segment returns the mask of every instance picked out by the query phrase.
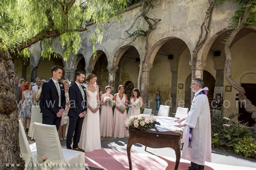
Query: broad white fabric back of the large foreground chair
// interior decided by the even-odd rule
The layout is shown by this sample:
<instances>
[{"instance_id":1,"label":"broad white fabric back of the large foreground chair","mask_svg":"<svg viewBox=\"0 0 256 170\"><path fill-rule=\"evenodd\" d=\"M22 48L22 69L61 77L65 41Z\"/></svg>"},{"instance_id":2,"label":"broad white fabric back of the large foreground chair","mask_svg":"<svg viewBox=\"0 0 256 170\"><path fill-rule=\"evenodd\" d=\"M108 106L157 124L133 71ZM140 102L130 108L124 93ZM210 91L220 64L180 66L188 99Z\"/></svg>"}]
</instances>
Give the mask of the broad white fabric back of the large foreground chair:
<instances>
[{"instance_id":1,"label":"broad white fabric back of the large foreground chair","mask_svg":"<svg viewBox=\"0 0 256 170\"><path fill-rule=\"evenodd\" d=\"M64 155L55 125L34 123L37 155L52 162L64 163Z\"/></svg>"}]
</instances>

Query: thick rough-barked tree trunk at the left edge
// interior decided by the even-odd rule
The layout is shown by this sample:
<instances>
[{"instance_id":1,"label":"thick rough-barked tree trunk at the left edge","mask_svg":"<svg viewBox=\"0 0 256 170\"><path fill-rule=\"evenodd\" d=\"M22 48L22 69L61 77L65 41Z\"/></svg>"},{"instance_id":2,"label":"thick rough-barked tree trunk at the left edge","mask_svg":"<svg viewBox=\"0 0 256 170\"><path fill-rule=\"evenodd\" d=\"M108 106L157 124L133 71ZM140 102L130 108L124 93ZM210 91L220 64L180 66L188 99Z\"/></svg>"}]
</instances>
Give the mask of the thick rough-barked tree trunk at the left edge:
<instances>
[{"instance_id":1,"label":"thick rough-barked tree trunk at the left edge","mask_svg":"<svg viewBox=\"0 0 256 170\"><path fill-rule=\"evenodd\" d=\"M12 58L8 52L0 52L0 169L24 169L19 150L16 84Z\"/></svg>"}]
</instances>

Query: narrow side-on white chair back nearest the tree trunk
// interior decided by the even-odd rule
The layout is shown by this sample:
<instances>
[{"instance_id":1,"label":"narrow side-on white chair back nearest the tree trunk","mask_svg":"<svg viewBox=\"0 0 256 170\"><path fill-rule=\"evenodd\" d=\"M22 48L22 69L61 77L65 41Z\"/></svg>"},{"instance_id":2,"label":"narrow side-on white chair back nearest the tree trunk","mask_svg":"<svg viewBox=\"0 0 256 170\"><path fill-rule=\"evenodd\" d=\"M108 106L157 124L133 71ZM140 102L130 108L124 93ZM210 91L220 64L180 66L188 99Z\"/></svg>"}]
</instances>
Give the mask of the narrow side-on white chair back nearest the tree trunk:
<instances>
[{"instance_id":1,"label":"narrow side-on white chair back nearest the tree trunk","mask_svg":"<svg viewBox=\"0 0 256 170\"><path fill-rule=\"evenodd\" d=\"M19 148L21 150L22 157L28 163L31 158L31 150L29 147L29 141L26 138L26 133L24 131L22 122L19 120Z\"/></svg>"}]
</instances>

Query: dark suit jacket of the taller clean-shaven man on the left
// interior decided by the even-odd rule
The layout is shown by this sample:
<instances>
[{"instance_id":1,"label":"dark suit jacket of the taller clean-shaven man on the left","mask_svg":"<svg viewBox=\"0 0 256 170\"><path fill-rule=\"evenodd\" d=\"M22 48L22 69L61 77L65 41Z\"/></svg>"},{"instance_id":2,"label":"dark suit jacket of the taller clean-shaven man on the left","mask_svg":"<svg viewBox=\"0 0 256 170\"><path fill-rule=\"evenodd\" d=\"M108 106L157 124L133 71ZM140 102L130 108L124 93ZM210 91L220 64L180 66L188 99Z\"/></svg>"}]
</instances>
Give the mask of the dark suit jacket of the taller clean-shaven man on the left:
<instances>
[{"instance_id":1,"label":"dark suit jacket of the taller clean-shaven man on the left","mask_svg":"<svg viewBox=\"0 0 256 170\"><path fill-rule=\"evenodd\" d=\"M55 83L52 81L52 79L43 83L41 94L41 96L43 96L41 98L43 100L42 104L44 104L43 116L56 117L59 109L65 109L66 97L63 83L59 82L59 88L61 103L60 107L58 107L59 95Z\"/></svg>"}]
</instances>

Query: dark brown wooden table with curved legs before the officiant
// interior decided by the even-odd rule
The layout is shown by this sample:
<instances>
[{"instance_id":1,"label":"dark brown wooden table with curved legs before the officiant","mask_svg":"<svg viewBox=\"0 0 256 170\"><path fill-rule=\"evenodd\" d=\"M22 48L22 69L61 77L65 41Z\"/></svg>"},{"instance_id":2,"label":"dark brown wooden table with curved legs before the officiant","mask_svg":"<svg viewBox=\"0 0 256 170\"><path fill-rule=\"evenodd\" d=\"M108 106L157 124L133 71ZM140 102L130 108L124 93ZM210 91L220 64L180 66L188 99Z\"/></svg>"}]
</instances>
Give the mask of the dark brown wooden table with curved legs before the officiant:
<instances>
[{"instance_id":1,"label":"dark brown wooden table with curved legs before the officiant","mask_svg":"<svg viewBox=\"0 0 256 170\"><path fill-rule=\"evenodd\" d=\"M163 147L171 147L175 151L176 154L176 164L175 170L178 169L179 161L180 161L180 138L182 136L182 132L177 131L166 131L159 132L157 134L156 131L140 131L140 130L129 130L130 137L127 143L127 157L129 160L129 168L132 169L132 161L131 161L131 147L133 144L139 143L152 148L163 148Z\"/></svg>"}]
</instances>

